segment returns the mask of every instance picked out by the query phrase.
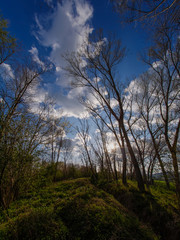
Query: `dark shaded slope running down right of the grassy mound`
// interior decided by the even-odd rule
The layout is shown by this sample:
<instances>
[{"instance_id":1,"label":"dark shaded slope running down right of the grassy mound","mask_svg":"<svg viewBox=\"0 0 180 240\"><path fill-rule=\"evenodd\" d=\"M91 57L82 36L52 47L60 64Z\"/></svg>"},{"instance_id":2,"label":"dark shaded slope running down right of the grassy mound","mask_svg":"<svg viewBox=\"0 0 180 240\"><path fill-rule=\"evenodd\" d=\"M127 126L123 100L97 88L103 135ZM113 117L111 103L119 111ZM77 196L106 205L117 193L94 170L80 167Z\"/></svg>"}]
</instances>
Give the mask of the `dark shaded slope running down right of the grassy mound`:
<instances>
[{"instance_id":1,"label":"dark shaded slope running down right of the grassy mound","mask_svg":"<svg viewBox=\"0 0 180 240\"><path fill-rule=\"evenodd\" d=\"M141 193L133 183L129 187L124 187L117 182L100 182L97 186L112 194L124 207L134 213L140 221L150 225L153 231L161 237L161 240L180 239L180 217L174 219L174 214L168 211L160 201L157 201L151 193ZM159 189L163 191L161 187ZM171 194L171 192L168 192L168 194ZM176 214L176 216L179 215L178 212Z\"/></svg>"}]
</instances>

